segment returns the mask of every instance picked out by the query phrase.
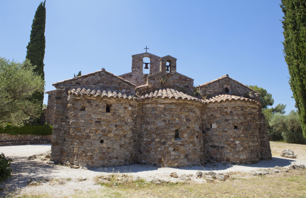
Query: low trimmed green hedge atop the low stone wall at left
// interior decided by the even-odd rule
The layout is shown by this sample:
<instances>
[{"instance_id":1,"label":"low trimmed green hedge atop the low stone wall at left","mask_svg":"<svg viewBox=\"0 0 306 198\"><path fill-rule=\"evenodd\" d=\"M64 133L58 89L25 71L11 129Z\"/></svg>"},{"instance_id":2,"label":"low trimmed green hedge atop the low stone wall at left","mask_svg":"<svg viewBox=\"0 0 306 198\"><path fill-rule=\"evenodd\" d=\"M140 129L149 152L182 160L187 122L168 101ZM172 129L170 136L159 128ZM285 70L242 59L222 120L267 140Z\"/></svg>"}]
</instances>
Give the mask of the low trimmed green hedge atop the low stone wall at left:
<instances>
[{"instance_id":1,"label":"low trimmed green hedge atop the low stone wall at left","mask_svg":"<svg viewBox=\"0 0 306 198\"><path fill-rule=\"evenodd\" d=\"M6 125L5 128L0 128L0 134L6 133L10 135L41 135L47 136L52 135L52 125L24 125L23 127L14 127Z\"/></svg>"}]
</instances>

